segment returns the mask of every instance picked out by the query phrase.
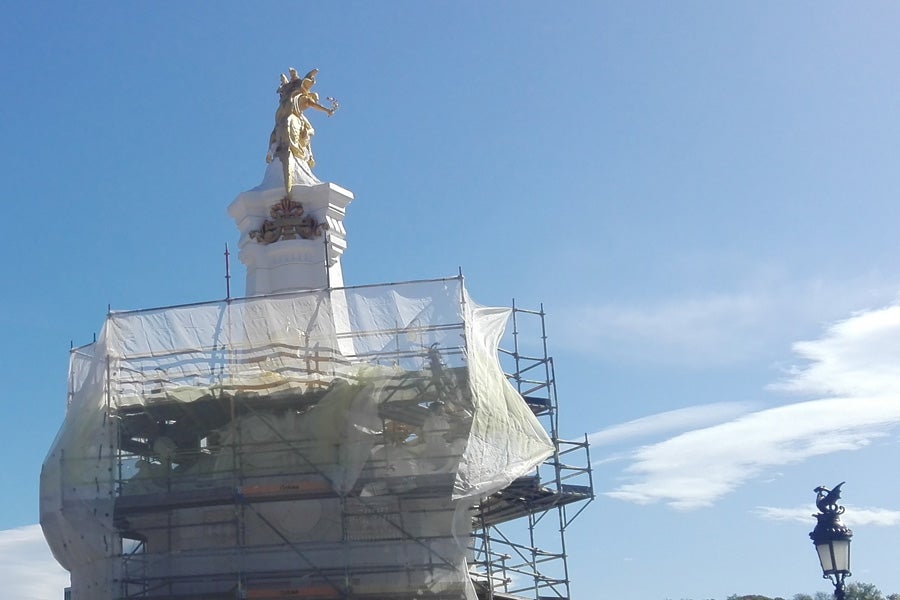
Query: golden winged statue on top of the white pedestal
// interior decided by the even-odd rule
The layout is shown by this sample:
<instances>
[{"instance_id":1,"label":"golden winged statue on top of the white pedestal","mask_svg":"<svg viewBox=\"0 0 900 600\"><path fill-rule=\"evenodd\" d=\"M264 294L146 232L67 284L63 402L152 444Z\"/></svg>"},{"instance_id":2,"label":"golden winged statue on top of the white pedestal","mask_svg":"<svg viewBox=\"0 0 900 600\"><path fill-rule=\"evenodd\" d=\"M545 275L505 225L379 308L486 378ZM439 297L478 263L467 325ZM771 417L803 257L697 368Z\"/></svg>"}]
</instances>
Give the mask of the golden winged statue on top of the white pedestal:
<instances>
[{"instance_id":1,"label":"golden winged statue on top of the white pedestal","mask_svg":"<svg viewBox=\"0 0 900 600\"><path fill-rule=\"evenodd\" d=\"M266 162L270 163L277 158L281 162L284 173L284 189L288 196L296 179L294 168L299 171L302 179L318 182L312 174L312 168L316 161L312 155L310 139L315 130L309 119L303 114L307 108L314 108L326 113L329 117L338 108L334 98L327 98L331 102L330 107L319 104L319 95L312 91L316 83L318 69L313 69L302 79L297 75L296 69L291 67L288 72L291 77L281 75L281 85L278 87L278 108L275 110L275 128L269 136L269 152Z\"/></svg>"}]
</instances>

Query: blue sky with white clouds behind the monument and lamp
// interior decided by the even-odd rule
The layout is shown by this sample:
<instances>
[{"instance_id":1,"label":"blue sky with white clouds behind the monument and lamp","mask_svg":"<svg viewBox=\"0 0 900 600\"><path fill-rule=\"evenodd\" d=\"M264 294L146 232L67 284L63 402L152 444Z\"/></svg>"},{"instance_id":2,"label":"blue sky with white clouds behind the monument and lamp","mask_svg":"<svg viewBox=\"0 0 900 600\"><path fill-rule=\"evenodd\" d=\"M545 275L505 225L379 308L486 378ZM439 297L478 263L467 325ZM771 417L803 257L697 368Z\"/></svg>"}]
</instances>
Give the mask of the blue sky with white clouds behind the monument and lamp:
<instances>
[{"instance_id":1,"label":"blue sky with white clouds behind the monument and lamp","mask_svg":"<svg viewBox=\"0 0 900 600\"><path fill-rule=\"evenodd\" d=\"M828 589L812 489L845 479L854 577L900 592L900 6L8 2L0 18L0 587L56 597L6 558L46 560L29 526L70 340L108 305L224 296L225 208L262 178L295 66L341 103L311 118L316 174L356 195L348 284L461 266L481 303L544 303L563 433L594 442L573 597Z\"/></svg>"}]
</instances>

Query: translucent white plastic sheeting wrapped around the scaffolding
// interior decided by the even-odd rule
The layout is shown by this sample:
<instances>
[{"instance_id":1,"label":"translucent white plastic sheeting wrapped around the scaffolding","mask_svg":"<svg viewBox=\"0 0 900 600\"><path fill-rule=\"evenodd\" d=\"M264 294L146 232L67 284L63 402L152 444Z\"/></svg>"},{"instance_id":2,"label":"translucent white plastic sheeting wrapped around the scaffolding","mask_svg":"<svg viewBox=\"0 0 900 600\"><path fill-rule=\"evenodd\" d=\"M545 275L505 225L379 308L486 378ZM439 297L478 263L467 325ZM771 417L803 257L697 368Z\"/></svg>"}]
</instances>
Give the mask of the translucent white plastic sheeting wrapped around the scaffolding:
<instances>
[{"instance_id":1,"label":"translucent white plastic sheeting wrapped around the scaffolding","mask_svg":"<svg viewBox=\"0 0 900 600\"><path fill-rule=\"evenodd\" d=\"M41 473L73 598L474 598L471 507L552 452L508 314L458 278L110 314Z\"/></svg>"}]
</instances>

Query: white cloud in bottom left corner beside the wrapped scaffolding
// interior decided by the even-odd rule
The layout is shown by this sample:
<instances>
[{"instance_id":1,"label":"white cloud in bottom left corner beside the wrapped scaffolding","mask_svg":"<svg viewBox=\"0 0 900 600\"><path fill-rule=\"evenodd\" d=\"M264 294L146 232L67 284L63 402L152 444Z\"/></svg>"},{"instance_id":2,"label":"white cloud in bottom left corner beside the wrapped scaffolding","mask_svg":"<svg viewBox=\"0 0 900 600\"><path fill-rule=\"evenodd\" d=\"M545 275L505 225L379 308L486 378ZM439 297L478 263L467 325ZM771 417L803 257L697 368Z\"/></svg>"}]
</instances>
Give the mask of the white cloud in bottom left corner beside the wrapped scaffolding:
<instances>
[{"instance_id":1,"label":"white cloud in bottom left corner beside the wrapped scaffolding","mask_svg":"<svg viewBox=\"0 0 900 600\"><path fill-rule=\"evenodd\" d=\"M61 600L69 585L39 525L0 531L0 590L17 600Z\"/></svg>"}]
</instances>

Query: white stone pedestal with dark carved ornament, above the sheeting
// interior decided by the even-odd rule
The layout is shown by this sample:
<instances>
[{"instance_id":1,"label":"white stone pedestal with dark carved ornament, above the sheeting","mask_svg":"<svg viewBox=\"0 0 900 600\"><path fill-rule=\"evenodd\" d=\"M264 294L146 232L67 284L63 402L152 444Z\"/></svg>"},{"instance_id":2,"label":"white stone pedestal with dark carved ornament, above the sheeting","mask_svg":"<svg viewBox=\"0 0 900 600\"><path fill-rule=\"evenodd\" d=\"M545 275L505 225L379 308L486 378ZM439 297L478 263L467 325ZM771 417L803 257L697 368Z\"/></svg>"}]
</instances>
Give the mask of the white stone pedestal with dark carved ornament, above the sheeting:
<instances>
[{"instance_id":1,"label":"white stone pedestal with dark carved ornament, above the sheeting","mask_svg":"<svg viewBox=\"0 0 900 600\"><path fill-rule=\"evenodd\" d=\"M265 182L264 182L265 183ZM240 231L247 296L343 287L344 214L353 194L333 183L249 190L228 207Z\"/></svg>"}]
</instances>

